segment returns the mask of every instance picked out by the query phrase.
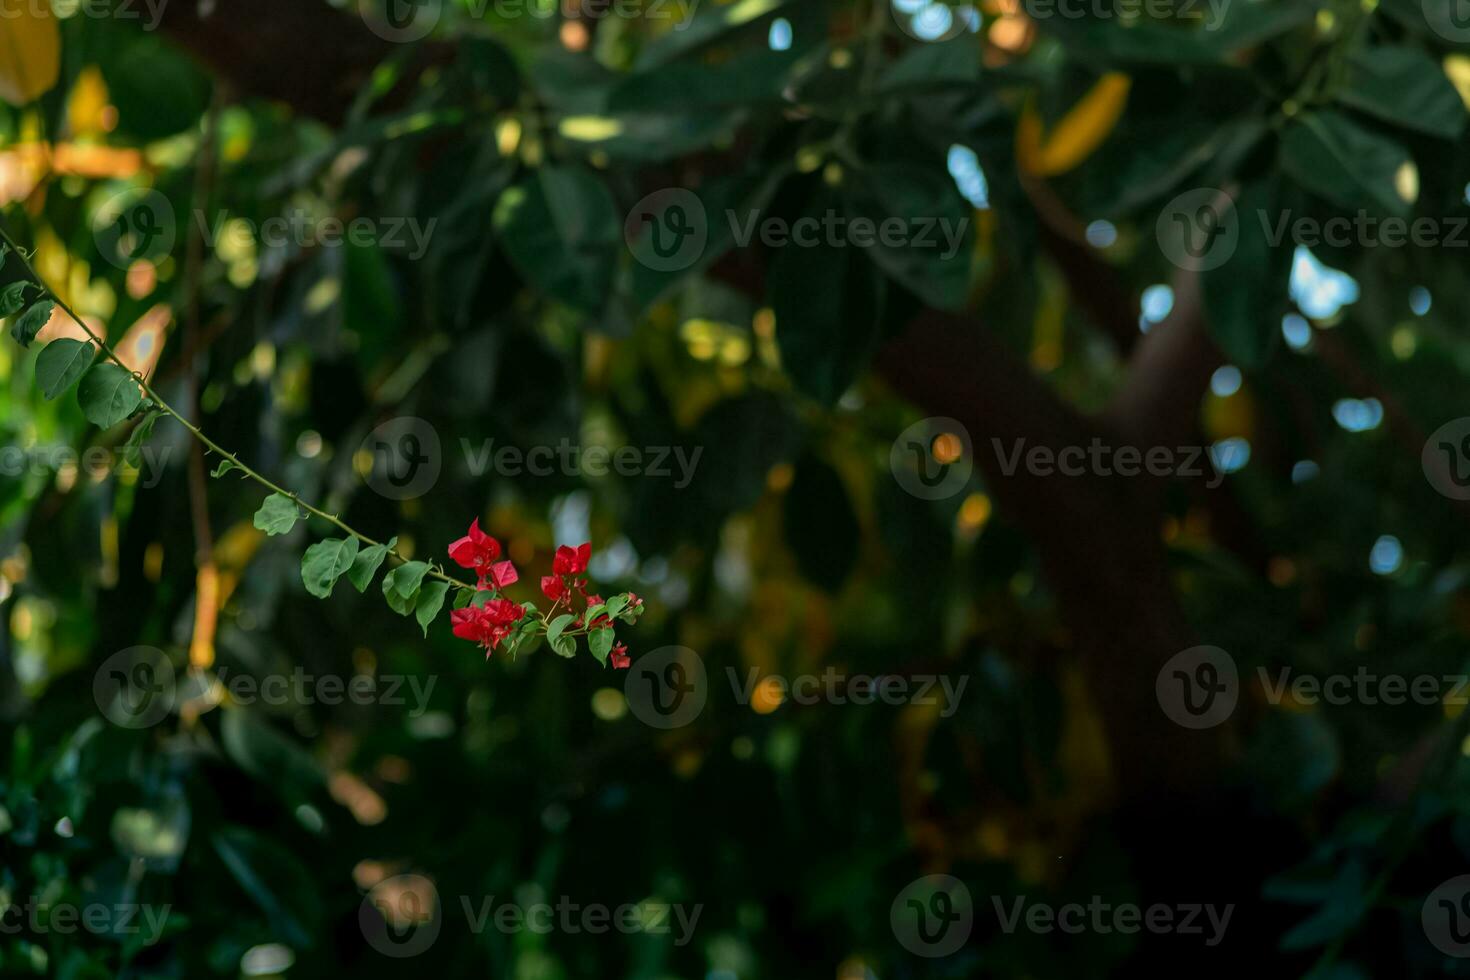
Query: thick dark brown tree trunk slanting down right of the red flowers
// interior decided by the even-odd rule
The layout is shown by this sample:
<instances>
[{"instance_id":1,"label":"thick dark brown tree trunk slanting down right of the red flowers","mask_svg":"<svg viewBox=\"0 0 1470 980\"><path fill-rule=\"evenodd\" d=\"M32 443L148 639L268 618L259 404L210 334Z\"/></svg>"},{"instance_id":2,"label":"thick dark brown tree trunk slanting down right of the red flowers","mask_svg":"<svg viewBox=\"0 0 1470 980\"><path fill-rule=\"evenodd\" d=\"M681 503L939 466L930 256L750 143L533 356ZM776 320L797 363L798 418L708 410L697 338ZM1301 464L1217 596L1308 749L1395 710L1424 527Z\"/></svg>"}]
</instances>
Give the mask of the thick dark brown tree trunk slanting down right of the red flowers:
<instances>
[{"instance_id":1,"label":"thick dark brown tree trunk slanting down right of the red flowers","mask_svg":"<svg viewBox=\"0 0 1470 980\"><path fill-rule=\"evenodd\" d=\"M925 411L969 429L986 486L1036 547L1097 685L1125 795L1177 805L1219 789L1222 735L1185 732L1155 702L1160 667L1195 644L1169 580L1157 505L1091 472L1042 475L1025 463L1032 447L1055 453L1110 436L972 319L923 313L876 369Z\"/></svg>"}]
</instances>

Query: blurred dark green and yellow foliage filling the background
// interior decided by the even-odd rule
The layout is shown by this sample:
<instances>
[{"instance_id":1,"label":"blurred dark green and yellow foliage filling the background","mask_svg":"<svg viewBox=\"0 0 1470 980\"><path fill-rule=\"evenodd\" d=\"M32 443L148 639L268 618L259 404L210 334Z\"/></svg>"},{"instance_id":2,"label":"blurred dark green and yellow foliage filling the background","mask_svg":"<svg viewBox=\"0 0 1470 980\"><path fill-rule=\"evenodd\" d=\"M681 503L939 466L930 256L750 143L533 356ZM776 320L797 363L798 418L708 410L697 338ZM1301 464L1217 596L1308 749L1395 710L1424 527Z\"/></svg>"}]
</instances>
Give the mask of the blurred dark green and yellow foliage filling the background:
<instances>
[{"instance_id":1,"label":"blurred dark green and yellow foliage filling the background","mask_svg":"<svg viewBox=\"0 0 1470 980\"><path fill-rule=\"evenodd\" d=\"M1254 671L1464 670L1466 511L1419 463L1424 433L1463 413L1464 253L1292 250L1245 222L1239 257L1201 285L1154 231L1197 187L1316 217L1470 216L1470 47L1435 29L1449 3L1235 0L1204 29L1013 0L706 0L688 22L673 4L597 18L456 0L423 41L388 44L370 16L319 0L204 15L171 0L159 31L138 4L143 21L57 1L56 84L0 109L3 220L46 281L220 444L413 555L441 558L479 516L531 583L556 544L591 539L604 591L648 597L635 660L689 646L711 696L660 732L588 658L485 663L375 597L310 598L295 570L310 532L265 539L250 483L210 480L201 532L191 447L169 420L156 472L51 453L0 476L0 896L173 914L151 946L4 934L0 970L1463 976L1419 926L1423 896L1470 858L1463 707L1269 705ZM623 220L666 187L711 216L831 207L969 219L967 235L958 260L933 262L738 247L711 220L695 266L656 272ZM175 244L118 262L97 234L109 201L150 191ZM298 212L435 225L413 256L251 234ZM1066 613L1051 564L1070 555L1104 595L1144 558L1107 536L1050 539L983 472L945 500L904 492L895 435L945 413L885 376L885 344L914 317L966 310L1013 360L931 350L954 388L1008 391L1005 372L1023 373L1039 379L1028 397L1104 413L1141 382L1132 347L1186 292L1223 354L1194 391L1169 375L1183 403L1155 414L1183 420L1182 444L1233 453L1225 488L1173 483L1138 530L1132 486L1073 507L1095 489L1078 482L1053 491L1053 517L1116 513L1160 548L1157 607L1177 602L1189 633L1241 664L1227 765L1185 765L1204 796L1176 793L1108 716L1122 663L1188 644L1100 627L1111 655L1092 657L1091 613ZM0 347L6 447L122 444L126 428L41 400L32 360ZM1047 442L1050 410L1016 414ZM359 448L397 416L428 420L445 460L401 502L368 488ZM490 439L703 454L682 488L506 478L462 448ZM198 696L134 732L93 696L97 664L134 645L166 651L194 693L220 673L297 669L437 683L423 713ZM1144 660L1152 707L1163 658ZM741 705L726 670L753 667L970 683L951 717ZM888 914L936 871L976 896L976 929L925 961ZM450 896L413 961L373 952L357 924L366 890L398 873ZM704 912L684 948L470 934L462 895ZM991 895L1239 908L1204 951L1008 936Z\"/></svg>"}]
</instances>

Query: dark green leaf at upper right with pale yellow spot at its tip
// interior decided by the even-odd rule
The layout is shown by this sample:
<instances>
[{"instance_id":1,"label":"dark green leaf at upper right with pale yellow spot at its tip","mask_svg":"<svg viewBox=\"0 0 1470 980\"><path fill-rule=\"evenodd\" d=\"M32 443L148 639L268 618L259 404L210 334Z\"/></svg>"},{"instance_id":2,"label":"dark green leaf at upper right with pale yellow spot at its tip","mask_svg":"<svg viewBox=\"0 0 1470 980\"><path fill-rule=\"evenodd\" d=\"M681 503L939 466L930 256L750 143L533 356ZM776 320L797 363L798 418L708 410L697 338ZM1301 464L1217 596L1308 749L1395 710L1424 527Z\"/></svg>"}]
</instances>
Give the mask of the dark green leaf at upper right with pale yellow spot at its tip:
<instances>
[{"instance_id":1,"label":"dark green leaf at upper right with pale yellow spot at its tip","mask_svg":"<svg viewBox=\"0 0 1470 980\"><path fill-rule=\"evenodd\" d=\"M1282 169L1301 187L1339 207L1376 206L1391 215L1408 215L1395 185L1408 151L1364 129L1339 112L1305 112L1295 116L1282 137Z\"/></svg>"}]
</instances>

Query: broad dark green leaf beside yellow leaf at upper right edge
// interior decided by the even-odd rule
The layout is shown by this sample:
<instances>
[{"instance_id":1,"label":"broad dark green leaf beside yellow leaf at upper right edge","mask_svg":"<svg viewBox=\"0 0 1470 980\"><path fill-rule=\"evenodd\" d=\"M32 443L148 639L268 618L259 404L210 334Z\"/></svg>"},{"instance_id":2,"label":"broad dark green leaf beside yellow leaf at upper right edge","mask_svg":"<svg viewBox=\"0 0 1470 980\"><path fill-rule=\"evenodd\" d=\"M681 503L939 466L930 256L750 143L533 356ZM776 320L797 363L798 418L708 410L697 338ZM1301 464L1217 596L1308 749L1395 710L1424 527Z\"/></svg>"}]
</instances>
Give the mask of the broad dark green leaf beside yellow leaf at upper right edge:
<instances>
[{"instance_id":1,"label":"broad dark green leaf beside yellow leaf at upper right edge","mask_svg":"<svg viewBox=\"0 0 1470 980\"><path fill-rule=\"evenodd\" d=\"M1386 44L1355 51L1338 101L1395 126L1455 140L1466 107L1445 72L1423 48Z\"/></svg>"}]
</instances>

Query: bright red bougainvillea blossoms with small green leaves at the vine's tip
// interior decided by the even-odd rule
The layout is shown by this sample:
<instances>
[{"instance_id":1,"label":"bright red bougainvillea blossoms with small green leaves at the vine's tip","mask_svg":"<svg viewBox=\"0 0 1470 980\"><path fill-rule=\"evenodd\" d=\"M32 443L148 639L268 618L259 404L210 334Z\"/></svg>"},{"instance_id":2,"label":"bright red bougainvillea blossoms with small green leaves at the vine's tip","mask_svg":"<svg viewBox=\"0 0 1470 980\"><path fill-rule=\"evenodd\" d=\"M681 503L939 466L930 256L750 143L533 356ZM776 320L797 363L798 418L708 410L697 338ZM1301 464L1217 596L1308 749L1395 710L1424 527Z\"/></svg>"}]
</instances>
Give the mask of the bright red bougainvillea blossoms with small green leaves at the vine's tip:
<instances>
[{"instance_id":1,"label":"bright red bougainvillea blossoms with small green leaves at the vine's tip","mask_svg":"<svg viewBox=\"0 0 1470 980\"><path fill-rule=\"evenodd\" d=\"M463 592L450 613L454 635L479 644L490 657L497 649L514 654L523 642L544 636L562 657L576 654L576 638L585 636L592 655L603 664L625 669L632 664L628 646L616 641L616 623L637 623L644 601L623 592L610 599L588 594L587 566L592 560L591 542L572 548L563 545L551 560L551 574L541 577L541 592L551 608L541 613L535 602L516 602L501 595L520 580L510 561L500 560L500 542L479 527L476 519L469 533L450 545L450 558L476 576L473 595Z\"/></svg>"}]
</instances>

